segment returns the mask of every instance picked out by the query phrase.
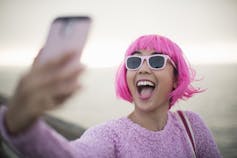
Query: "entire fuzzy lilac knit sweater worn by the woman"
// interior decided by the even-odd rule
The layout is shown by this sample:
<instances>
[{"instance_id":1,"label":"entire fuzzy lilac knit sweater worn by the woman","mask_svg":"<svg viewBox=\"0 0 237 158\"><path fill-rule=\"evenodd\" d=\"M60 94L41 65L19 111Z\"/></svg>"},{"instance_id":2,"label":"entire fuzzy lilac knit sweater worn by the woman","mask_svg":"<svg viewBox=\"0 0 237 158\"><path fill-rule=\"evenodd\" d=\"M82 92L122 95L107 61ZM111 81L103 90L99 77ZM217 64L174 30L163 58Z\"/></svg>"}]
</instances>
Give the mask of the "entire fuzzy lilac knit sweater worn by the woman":
<instances>
[{"instance_id":1,"label":"entire fuzzy lilac knit sweater worn by the woman","mask_svg":"<svg viewBox=\"0 0 237 158\"><path fill-rule=\"evenodd\" d=\"M185 129L177 115L168 113L168 121L161 131L150 131L127 117L88 129L81 138L69 142L42 120L17 137L6 132L0 110L0 131L27 158L191 158L192 150L185 137ZM196 141L197 157L219 158L214 139L200 119L186 111Z\"/></svg>"}]
</instances>

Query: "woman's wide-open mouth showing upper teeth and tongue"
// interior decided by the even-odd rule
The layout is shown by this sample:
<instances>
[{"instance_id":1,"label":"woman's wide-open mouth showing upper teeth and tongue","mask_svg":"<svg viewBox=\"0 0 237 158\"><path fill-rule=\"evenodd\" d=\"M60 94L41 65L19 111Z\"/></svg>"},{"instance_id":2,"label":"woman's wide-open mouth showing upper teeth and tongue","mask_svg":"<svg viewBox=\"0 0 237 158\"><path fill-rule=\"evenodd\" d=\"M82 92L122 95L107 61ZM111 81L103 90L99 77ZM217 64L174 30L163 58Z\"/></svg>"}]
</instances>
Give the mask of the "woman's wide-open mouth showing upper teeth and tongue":
<instances>
[{"instance_id":1,"label":"woman's wide-open mouth showing upper teeth and tongue","mask_svg":"<svg viewBox=\"0 0 237 158\"><path fill-rule=\"evenodd\" d=\"M149 99L156 87L155 83L149 80L140 80L136 86L141 99Z\"/></svg>"}]
</instances>

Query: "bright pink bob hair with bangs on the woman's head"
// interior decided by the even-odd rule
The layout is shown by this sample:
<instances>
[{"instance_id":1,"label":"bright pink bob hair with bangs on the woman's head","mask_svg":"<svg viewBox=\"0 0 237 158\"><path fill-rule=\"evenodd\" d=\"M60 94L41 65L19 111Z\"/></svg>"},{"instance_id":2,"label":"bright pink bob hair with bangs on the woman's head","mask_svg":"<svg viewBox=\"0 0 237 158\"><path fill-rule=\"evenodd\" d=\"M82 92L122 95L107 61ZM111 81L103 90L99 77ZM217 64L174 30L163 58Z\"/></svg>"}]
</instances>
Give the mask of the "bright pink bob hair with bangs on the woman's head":
<instances>
[{"instance_id":1,"label":"bright pink bob hair with bangs on the woman's head","mask_svg":"<svg viewBox=\"0 0 237 158\"><path fill-rule=\"evenodd\" d=\"M200 88L195 88L191 82L195 79L195 71L186 62L181 48L170 39L160 35L144 35L136 39L127 49L125 57L138 50L154 50L168 55L175 63L174 74L177 87L170 93L169 100L171 108L179 99L188 99L195 93L200 93ZM115 89L117 97L128 102L133 102L126 80L127 69L124 61L118 68L115 78Z\"/></svg>"}]
</instances>

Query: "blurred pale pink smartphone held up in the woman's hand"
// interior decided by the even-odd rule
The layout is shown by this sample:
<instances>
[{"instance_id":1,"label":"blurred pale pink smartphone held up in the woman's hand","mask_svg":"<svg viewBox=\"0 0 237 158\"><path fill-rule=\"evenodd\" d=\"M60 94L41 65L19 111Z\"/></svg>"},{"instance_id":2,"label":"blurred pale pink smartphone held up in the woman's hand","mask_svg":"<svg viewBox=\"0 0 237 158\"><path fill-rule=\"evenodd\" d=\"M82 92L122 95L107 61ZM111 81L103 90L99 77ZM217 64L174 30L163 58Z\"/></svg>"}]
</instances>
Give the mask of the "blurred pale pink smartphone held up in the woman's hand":
<instances>
[{"instance_id":1,"label":"blurred pale pink smartphone held up in the woman's hand","mask_svg":"<svg viewBox=\"0 0 237 158\"><path fill-rule=\"evenodd\" d=\"M90 25L89 16L66 16L54 19L38 62L45 64L64 53L75 52L77 55L69 65L78 66Z\"/></svg>"}]
</instances>

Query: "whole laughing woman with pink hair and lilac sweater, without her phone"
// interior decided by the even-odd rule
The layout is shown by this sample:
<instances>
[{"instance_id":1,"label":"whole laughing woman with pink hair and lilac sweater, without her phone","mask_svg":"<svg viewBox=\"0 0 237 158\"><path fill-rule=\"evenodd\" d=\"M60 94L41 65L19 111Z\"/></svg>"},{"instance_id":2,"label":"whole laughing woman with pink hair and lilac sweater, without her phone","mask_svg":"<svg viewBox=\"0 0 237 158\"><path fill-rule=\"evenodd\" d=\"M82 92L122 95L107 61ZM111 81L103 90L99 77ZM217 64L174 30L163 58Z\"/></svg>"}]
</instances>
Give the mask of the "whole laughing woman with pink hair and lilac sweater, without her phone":
<instances>
[{"instance_id":1,"label":"whole laughing woman with pink hair and lilac sweater, without her phone","mask_svg":"<svg viewBox=\"0 0 237 158\"><path fill-rule=\"evenodd\" d=\"M43 65L36 59L20 80L8 108L1 108L1 134L25 157L221 157L198 114L170 111L178 100L202 90L191 85L195 73L180 47L160 35L136 39L118 68L116 94L134 105L132 113L91 127L72 142L63 138L40 116L80 91L77 79L83 67L64 68L74 56L69 52Z\"/></svg>"}]
</instances>

